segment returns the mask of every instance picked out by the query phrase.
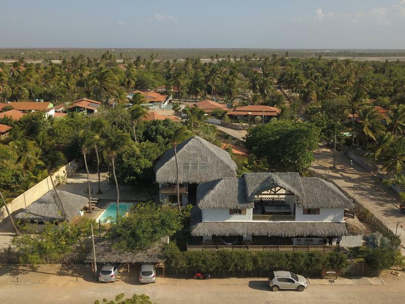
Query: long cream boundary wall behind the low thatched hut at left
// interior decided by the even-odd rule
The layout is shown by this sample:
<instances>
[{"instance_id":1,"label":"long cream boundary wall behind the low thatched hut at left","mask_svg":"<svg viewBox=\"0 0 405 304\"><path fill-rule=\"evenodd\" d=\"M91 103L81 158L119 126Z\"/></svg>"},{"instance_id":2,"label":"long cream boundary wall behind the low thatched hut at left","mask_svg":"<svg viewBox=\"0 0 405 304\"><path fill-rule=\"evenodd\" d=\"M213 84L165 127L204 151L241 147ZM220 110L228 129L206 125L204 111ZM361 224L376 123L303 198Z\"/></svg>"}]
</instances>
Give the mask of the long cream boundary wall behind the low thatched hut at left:
<instances>
[{"instance_id":1,"label":"long cream boundary wall behind the low thatched hut at left","mask_svg":"<svg viewBox=\"0 0 405 304\"><path fill-rule=\"evenodd\" d=\"M81 167L82 164L80 162L73 160L70 163L67 163L66 165L61 167L59 170L57 170L52 177L56 182L57 177L66 178L71 174L73 174L74 172L76 172ZM9 208L10 213L27 208L37 199L39 199L44 194L49 192L51 189L52 189L52 181L48 176L47 178L35 184L33 187L29 188L23 194L19 195L14 200L12 200L11 203L7 204L7 207ZM7 217L8 215L6 212L6 207L3 206L2 208L0 208L0 222Z\"/></svg>"}]
</instances>

